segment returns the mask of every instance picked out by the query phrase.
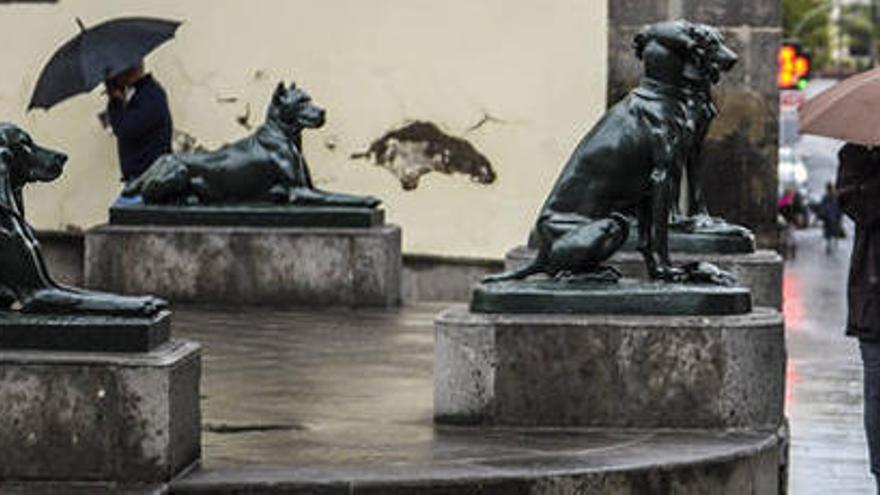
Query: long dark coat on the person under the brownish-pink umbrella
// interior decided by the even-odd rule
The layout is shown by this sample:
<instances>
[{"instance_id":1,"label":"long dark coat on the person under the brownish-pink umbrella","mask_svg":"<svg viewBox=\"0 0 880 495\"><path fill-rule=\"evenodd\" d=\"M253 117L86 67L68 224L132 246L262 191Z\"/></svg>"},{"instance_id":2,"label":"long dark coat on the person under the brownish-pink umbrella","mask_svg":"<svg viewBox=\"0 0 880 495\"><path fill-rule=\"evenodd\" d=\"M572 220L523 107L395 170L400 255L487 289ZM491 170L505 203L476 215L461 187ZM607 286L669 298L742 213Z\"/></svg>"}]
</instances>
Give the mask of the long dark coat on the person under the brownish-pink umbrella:
<instances>
[{"instance_id":1,"label":"long dark coat on the person under the brownish-pink umbrella","mask_svg":"<svg viewBox=\"0 0 880 495\"><path fill-rule=\"evenodd\" d=\"M880 149L847 144L838 157L838 201L856 225L846 333L880 340Z\"/></svg>"}]
</instances>

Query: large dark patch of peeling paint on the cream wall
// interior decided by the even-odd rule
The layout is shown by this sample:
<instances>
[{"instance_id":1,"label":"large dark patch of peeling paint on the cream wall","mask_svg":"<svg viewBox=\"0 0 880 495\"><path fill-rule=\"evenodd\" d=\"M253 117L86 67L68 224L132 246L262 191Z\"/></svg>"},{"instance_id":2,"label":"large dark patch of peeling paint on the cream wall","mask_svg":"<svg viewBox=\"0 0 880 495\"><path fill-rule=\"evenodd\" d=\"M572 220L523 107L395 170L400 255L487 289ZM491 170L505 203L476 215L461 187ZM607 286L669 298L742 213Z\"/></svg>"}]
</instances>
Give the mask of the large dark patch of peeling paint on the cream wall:
<instances>
[{"instance_id":1,"label":"large dark patch of peeling paint on the cream wall","mask_svg":"<svg viewBox=\"0 0 880 495\"><path fill-rule=\"evenodd\" d=\"M466 174L480 184L495 182L489 160L467 140L444 133L431 122L410 122L386 132L370 148L352 159L372 160L400 180L404 190L419 186L431 172Z\"/></svg>"}]
</instances>

